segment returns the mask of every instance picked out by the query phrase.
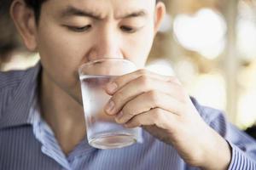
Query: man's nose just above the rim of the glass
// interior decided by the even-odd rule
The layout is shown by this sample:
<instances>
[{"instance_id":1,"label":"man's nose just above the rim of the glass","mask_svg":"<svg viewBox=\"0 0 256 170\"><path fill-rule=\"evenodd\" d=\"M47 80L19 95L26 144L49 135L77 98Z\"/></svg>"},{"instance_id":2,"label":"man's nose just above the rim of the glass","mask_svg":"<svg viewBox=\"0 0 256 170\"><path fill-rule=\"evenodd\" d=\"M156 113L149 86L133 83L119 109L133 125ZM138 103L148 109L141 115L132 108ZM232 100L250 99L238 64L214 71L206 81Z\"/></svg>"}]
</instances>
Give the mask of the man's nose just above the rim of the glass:
<instances>
[{"instance_id":1,"label":"man's nose just above the rim of the glass","mask_svg":"<svg viewBox=\"0 0 256 170\"><path fill-rule=\"evenodd\" d=\"M119 32L111 26L106 26L106 28L102 28L101 31L98 31L94 42L95 45L90 51L89 60L102 58L124 58L121 50Z\"/></svg>"}]
</instances>

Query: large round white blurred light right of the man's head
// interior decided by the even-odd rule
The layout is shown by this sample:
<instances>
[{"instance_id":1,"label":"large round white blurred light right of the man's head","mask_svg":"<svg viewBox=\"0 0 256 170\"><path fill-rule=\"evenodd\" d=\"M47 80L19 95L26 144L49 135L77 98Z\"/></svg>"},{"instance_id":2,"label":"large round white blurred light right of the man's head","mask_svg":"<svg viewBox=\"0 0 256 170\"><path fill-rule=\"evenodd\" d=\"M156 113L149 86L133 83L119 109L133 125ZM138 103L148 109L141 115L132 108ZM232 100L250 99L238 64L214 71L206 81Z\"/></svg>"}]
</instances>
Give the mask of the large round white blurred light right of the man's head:
<instances>
[{"instance_id":1,"label":"large round white blurred light right of the man's head","mask_svg":"<svg viewBox=\"0 0 256 170\"><path fill-rule=\"evenodd\" d=\"M193 15L178 14L173 31L184 48L208 59L218 57L224 50L227 26L223 16L210 8L202 8Z\"/></svg>"}]
</instances>

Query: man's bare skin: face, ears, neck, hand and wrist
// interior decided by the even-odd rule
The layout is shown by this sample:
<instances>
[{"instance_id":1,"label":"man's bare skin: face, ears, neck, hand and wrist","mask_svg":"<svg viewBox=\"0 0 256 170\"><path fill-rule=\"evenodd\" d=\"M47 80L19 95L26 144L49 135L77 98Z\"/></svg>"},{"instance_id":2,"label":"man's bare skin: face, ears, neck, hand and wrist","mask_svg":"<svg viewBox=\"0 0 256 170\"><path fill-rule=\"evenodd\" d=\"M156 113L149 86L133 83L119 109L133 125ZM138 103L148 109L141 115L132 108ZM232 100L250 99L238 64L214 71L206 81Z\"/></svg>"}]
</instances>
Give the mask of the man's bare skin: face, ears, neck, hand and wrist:
<instances>
[{"instance_id":1,"label":"man's bare skin: face, ears, neck, hand and wrist","mask_svg":"<svg viewBox=\"0 0 256 170\"><path fill-rule=\"evenodd\" d=\"M165 13L165 5L155 0L49 0L37 25L22 0L12 3L11 15L26 47L40 54L41 112L65 154L86 134L79 65L114 56L142 69L108 84L108 115L172 144L191 166L227 169L229 144L201 119L177 78L143 69Z\"/></svg>"}]
</instances>

